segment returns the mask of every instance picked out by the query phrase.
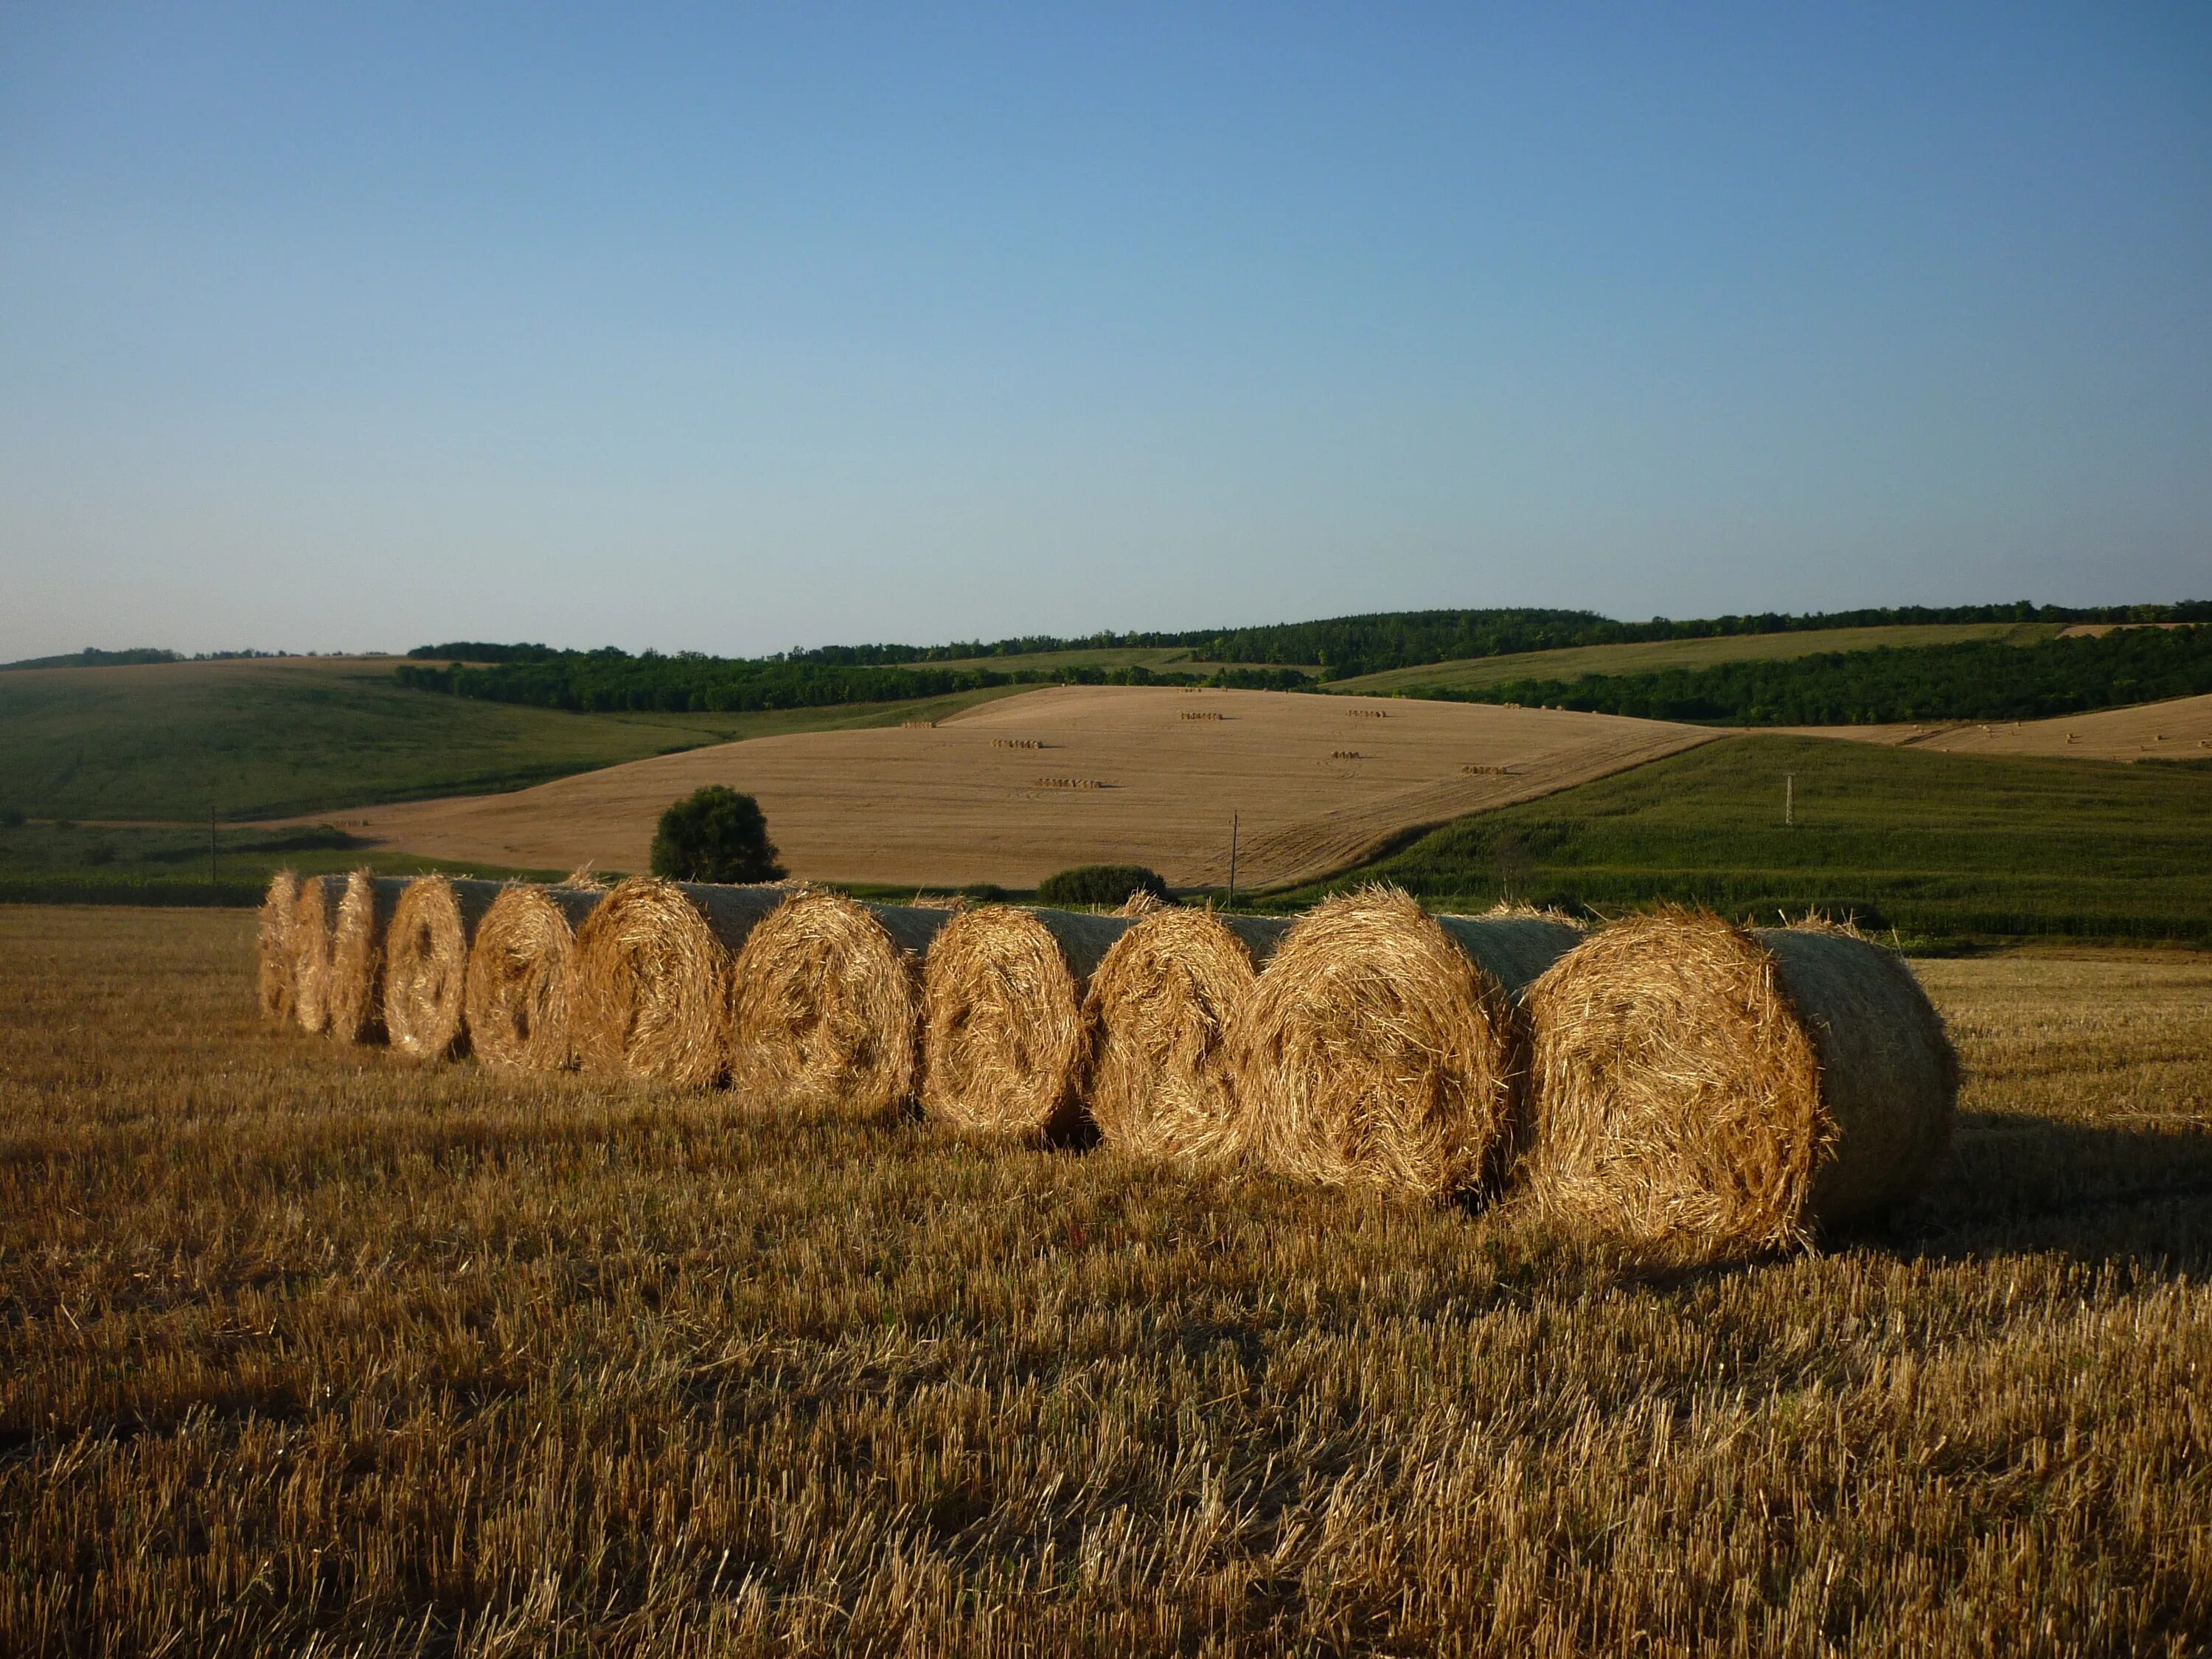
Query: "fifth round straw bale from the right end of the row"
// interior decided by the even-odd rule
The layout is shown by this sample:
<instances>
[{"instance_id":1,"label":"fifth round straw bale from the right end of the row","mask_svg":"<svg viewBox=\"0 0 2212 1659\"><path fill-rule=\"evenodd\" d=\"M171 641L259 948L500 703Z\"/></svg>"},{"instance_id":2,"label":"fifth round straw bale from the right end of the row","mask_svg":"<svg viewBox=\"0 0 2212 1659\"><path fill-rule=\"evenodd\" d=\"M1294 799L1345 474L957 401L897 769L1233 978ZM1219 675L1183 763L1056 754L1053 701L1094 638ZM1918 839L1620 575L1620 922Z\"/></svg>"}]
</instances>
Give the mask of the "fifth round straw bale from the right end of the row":
<instances>
[{"instance_id":1,"label":"fifth round straw bale from the right end of the row","mask_svg":"<svg viewBox=\"0 0 2212 1659\"><path fill-rule=\"evenodd\" d=\"M949 909L794 891L752 929L730 969L730 1086L854 1117L911 1102L920 962L949 920Z\"/></svg>"}]
</instances>

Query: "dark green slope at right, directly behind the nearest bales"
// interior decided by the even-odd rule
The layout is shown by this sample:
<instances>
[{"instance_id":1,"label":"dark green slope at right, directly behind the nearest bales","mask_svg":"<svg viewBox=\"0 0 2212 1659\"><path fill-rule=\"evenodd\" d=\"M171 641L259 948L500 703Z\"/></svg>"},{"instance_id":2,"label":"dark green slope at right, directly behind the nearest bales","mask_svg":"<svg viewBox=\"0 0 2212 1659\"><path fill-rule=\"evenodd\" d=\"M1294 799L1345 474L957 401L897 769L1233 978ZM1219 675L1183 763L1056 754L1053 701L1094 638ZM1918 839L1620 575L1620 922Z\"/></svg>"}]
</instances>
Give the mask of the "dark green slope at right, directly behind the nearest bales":
<instances>
[{"instance_id":1,"label":"dark green slope at right, directly behind the nearest bales","mask_svg":"<svg viewBox=\"0 0 2212 1659\"><path fill-rule=\"evenodd\" d=\"M1783 827L1783 774L1798 825ZM2212 774L1741 737L1462 818L1332 883L1440 909L1694 900L1907 933L2212 942ZM1283 896L1285 902L1314 889Z\"/></svg>"}]
</instances>

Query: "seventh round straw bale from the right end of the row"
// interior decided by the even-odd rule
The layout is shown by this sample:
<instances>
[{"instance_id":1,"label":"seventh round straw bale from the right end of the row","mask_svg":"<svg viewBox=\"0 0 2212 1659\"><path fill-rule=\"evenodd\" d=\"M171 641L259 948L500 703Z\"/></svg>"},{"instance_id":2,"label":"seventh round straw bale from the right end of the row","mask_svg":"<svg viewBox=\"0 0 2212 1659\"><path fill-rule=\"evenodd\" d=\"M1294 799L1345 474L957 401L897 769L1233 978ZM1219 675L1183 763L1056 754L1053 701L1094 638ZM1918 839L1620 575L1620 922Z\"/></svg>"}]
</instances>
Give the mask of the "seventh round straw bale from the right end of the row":
<instances>
[{"instance_id":1,"label":"seventh round straw bale from the right end of the row","mask_svg":"<svg viewBox=\"0 0 2212 1659\"><path fill-rule=\"evenodd\" d=\"M511 883L491 900L469 945L462 993L478 1060L509 1071L575 1064L575 929L602 898L604 887Z\"/></svg>"}]
</instances>

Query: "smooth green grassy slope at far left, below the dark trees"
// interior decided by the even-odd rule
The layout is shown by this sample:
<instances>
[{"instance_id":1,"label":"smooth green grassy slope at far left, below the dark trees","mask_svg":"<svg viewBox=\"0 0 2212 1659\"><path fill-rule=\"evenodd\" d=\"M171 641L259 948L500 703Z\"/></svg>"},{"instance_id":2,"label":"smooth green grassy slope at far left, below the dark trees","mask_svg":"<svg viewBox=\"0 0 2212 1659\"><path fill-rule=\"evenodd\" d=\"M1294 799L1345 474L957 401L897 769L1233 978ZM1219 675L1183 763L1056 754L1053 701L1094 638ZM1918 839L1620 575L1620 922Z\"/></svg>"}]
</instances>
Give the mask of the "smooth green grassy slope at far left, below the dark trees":
<instances>
[{"instance_id":1,"label":"smooth green grassy slope at far left, below the dark trees","mask_svg":"<svg viewBox=\"0 0 2212 1659\"><path fill-rule=\"evenodd\" d=\"M993 692L768 714L562 714L279 659L0 675L0 805L64 818L265 818L487 794L739 737L938 719Z\"/></svg>"}]
</instances>

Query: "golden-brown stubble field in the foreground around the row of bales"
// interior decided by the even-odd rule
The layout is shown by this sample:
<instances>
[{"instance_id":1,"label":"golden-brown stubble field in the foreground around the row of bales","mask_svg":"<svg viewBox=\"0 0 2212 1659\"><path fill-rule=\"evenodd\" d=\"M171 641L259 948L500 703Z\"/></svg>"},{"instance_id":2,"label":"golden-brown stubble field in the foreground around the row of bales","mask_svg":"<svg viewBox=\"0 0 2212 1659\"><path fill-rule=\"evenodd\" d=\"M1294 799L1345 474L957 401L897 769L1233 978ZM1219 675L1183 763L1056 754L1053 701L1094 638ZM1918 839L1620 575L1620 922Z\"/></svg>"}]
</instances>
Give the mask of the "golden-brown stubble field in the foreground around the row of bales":
<instances>
[{"instance_id":1,"label":"golden-brown stubble field in the foreground around the row of bales","mask_svg":"<svg viewBox=\"0 0 2212 1659\"><path fill-rule=\"evenodd\" d=\"M2121 1655L2212 1626L2212 960L1922 969L1951 1170L1650 1276L270 1031L0 909L11 1655Z\"/></svg>"}]
</instances>

